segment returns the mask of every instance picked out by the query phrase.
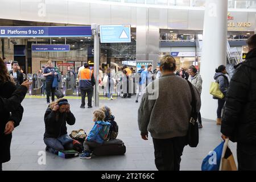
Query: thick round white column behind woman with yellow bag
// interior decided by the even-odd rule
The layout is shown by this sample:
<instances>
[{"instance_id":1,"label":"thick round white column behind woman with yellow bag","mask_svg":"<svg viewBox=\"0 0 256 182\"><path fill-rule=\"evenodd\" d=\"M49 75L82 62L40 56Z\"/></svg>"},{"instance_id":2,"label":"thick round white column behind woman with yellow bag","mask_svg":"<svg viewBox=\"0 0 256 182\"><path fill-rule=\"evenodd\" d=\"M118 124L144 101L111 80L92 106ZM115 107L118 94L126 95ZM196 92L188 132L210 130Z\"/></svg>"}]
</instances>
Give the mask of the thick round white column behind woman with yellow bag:
<instances>
[{"instance_id":1,"label":"thick round white column behind woman with yellow bag","mask_svg":"<svg viewBox=\"0 0 256 182\"><path fill-rule=\"evenodd\" d=\"M215 69L226 65L228 0L206 0L204 13L203 49L200 75L203 78L201 115L206 119L217 118L217 100L209 94Z\"/></svg>"}]
</instances>

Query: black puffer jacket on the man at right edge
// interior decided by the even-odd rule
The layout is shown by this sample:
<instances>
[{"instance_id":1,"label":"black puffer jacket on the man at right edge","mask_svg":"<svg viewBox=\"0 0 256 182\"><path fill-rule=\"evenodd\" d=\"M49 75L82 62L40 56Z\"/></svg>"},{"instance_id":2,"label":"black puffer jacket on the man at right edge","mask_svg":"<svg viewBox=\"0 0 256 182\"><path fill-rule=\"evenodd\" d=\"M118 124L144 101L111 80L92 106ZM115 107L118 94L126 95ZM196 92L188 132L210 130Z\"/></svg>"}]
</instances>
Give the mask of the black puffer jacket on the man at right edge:
<instances>
[{"instance_id":1,"label":"black puffer jacket on the man at right edge","mask_svg":"<svg viewBox=\"0 0 256 182\"><path fill-rule=\"evenodd\" d=\"M256 49L247 53L230 81L221 133L256 146Z\"/></svg>"}]
</instances>

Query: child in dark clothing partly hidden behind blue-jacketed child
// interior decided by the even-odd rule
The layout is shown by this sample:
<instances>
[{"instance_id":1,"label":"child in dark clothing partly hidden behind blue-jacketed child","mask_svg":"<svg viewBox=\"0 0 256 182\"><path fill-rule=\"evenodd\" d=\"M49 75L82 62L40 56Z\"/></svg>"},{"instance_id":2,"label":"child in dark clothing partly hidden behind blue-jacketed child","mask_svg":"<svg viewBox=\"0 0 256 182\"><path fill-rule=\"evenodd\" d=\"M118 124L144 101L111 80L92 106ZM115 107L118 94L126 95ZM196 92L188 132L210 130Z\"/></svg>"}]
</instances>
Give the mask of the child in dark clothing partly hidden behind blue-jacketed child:
<instances>
[{"instance_id":1,"label":"child in dark clothing partly hidden behind blue-jacketed child","mask_svg":"<svg viewBox=\"0 0 256 182\"><path fill-rule=\"evenodd\" d=\"M112 112L108 106L102 106L100 110L104 111L105 113L104 121L109 122L111 124L109 129L108 140L116 139L118 135L118 125L117 122L115 122L114 115L112 115Z\"/></svg>"}]
</instances>

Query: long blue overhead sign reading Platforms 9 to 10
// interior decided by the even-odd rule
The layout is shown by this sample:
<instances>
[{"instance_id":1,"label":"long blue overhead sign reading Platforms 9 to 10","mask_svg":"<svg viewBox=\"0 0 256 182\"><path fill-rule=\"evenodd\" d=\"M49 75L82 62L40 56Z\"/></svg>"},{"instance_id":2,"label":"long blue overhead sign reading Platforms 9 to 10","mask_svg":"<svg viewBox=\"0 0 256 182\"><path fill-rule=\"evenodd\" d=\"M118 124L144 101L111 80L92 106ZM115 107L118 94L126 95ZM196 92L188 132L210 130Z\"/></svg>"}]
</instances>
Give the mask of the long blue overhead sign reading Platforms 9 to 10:
<instances>
[{"instance_id":1,"label":"long blue overhead sign reading Platforms 9 to 10","mask_svg":"<svg viewBox=\"0 0 256 182\"><path fill-rule=\"evenodd\" d=\"M0 27L0 38L92 36L90 26Z\"/></svg>"}]
</instances>

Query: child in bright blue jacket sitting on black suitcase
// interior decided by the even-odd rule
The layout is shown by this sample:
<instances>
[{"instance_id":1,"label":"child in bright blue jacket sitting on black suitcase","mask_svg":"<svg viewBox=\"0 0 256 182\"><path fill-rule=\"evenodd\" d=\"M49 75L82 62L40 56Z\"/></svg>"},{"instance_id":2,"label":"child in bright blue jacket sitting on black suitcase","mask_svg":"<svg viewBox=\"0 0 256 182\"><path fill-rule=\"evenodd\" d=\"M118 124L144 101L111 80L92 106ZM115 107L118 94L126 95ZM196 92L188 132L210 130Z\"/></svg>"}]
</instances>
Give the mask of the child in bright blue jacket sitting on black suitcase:
<instances>
[{"instance_id":1,"label":"child in bright blue jacket sitting on black suitcase","mask_svg":"<svg viewBox=\"0 0 256 182\"><path fill-rule=\"evenodd\" d=\"M105 122L104 118L105 114L103 111L96 110L93 112L93 122L95 123L88 137L85 138L84 151L82 151L82 154L80 155L81 159L90 159L91 149L102 146L104 140L107 138L111 124Z\"/></svg>"}]
</instances>

